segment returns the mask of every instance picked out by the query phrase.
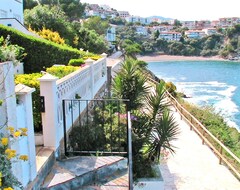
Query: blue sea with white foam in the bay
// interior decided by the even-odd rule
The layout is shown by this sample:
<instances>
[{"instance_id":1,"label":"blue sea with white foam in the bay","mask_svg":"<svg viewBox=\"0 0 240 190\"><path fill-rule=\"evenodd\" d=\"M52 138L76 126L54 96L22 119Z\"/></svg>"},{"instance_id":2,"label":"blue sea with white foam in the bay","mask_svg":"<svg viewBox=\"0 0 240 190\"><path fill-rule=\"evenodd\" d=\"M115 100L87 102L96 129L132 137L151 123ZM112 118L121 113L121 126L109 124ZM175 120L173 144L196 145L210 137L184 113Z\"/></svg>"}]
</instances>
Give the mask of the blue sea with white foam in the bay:
<instances>
[{"instance_id":1,"label":"blue sea with white foam in the bay","mask_svg":"<svg viewBox=\"0 0 240 190\"><path fill-rule=\"evenodd\" d=\"M187 101L215 107L230 126L240 130L240 62L149 62L148 68L192 97Z\"/></svg>"}]
</instances>

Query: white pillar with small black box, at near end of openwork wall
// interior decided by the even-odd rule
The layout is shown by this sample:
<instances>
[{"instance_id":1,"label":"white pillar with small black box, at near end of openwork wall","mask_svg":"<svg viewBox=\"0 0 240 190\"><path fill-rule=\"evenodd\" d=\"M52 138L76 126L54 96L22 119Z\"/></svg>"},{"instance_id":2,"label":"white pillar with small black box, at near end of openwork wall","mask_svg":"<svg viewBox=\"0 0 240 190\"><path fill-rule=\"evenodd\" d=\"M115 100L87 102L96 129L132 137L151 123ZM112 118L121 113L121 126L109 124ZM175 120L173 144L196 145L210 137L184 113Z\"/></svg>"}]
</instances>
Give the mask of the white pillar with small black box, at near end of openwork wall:
<instances>
[{"instance_id":1,"label":"white pillar with small black box, at near end of openwork wall","mask_svg":"<svg viewBox=\"0 0 240 190\"><path fill-rule=\"evenodd\" d=\"M42 112L44 146L57 150L59 147L56 85L58 78L47 73L38 80L40 96L44 98L45 107L45 111Z\"/></svg>"}]
</instances>

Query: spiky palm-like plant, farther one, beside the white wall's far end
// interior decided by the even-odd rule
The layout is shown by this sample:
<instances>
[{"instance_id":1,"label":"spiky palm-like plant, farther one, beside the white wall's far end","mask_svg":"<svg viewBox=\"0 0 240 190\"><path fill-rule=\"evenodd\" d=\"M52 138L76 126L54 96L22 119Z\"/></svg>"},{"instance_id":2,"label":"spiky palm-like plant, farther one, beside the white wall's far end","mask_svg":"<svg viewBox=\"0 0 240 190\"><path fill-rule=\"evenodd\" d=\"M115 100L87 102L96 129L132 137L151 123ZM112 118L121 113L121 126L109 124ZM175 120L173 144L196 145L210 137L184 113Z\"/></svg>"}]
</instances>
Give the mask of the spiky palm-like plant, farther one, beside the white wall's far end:
<instances>
[{"instance_id":1,"label":"spiky palm-like plant, farther one, beside the white wall's far end","mask_svg":"<svg viewBox=\"0 0 240 190\"><path fill-rule=\"evenodd\" d=\"M113 96L129 99L128 110L138 109L143 105L143 99L148 93L147 78L138 66L138 61L128 58L122 64L122 69L113 80Z\"/></svg>"}]
</instances>

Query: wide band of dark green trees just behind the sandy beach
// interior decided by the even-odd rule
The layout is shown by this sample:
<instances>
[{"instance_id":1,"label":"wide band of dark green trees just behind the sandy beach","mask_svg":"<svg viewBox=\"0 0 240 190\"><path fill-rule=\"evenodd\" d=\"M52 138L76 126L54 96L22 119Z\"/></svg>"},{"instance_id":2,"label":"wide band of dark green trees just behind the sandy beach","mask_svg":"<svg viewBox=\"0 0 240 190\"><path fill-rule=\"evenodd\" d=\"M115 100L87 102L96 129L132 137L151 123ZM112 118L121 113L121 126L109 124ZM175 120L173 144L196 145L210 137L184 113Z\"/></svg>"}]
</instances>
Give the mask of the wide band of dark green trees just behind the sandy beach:
<instances>
[{"instance_id":1,"label":"wide band of dark green trees just behind the sandy beach","mask_svg":"<svg viewBox=\"0 0 240 190\"><path fill-rule=\"evenodd\" d=\"M169 55L183 56L237 56L240 51L240 25L235 25L217 34L205 36L200 39L190 39L184 35L187 28L182 28L176 21L174 31L181 32L180 41L168 41L159 38L160 32L148 31L147 36L137 33L137 24L119 27L117 29L117 43L124 49L124 41L130 40L140 46L140 54L164 52ZM133 48L131 48L133 49Z\"/></svg>"}]
</instances>

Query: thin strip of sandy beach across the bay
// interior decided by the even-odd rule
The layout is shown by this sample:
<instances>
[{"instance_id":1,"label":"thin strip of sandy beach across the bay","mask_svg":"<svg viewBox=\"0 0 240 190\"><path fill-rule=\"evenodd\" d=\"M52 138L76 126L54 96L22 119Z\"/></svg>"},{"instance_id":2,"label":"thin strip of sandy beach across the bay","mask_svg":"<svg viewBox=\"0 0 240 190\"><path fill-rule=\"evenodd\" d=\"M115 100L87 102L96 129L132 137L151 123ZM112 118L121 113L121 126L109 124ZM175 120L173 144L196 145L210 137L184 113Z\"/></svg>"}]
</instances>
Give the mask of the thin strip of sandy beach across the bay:
<instances>
[{"instance_id":1,"label":"thin strip of sandy beach across the bay","mask_svg":"<svg viewBox=\"0 0 240 190\"><path fill-rule=\"evenodd\" d=\"M138 60L146 61L146 62L154 62L154 61L204 61L204 60L212 60L212 61L226 61L219 56L213 57L201 57L201 56L175 56L175 55L151 55L151 56L139 56Z\"/></svg>"}]
</instances>

